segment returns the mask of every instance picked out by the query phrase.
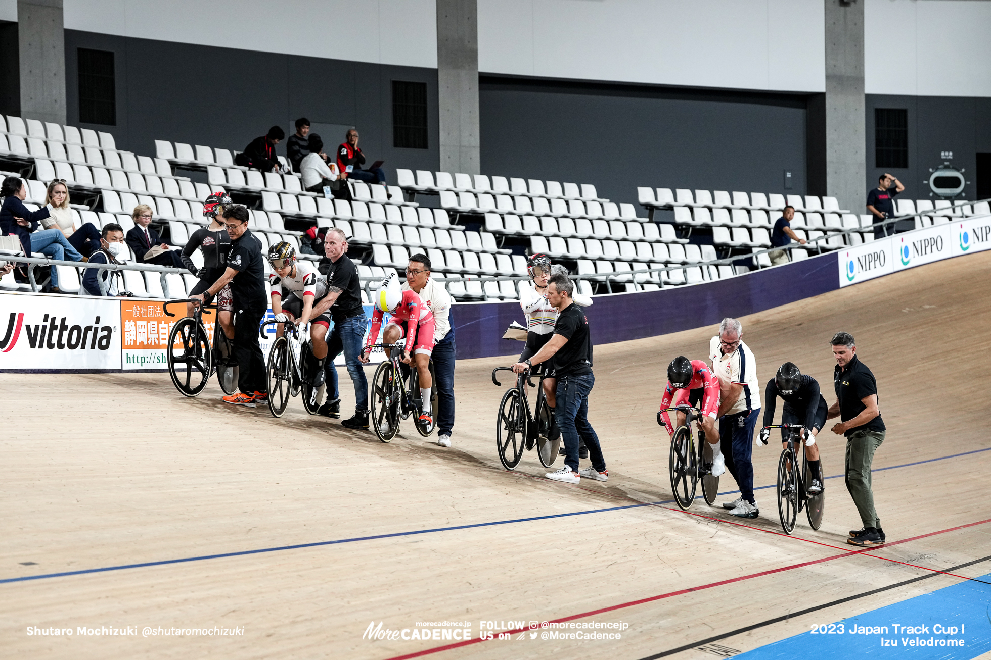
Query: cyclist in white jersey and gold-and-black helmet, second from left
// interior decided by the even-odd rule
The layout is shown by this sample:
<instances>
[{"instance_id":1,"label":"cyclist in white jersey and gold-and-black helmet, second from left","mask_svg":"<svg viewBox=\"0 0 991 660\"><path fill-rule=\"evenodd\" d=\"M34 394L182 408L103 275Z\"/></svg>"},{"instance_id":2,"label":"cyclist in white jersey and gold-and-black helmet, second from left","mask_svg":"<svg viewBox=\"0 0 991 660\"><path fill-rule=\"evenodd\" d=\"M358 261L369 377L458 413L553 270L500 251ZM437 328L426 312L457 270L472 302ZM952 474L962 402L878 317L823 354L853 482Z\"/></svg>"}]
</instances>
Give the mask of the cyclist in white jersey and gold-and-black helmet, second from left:
<instances>
[{"instance_id":1,"label":"cyclist in white jersey and gold-and-black helmet, second from left","mask_svg":"<svg viewBox=\"0 0 991 660\"><path fill-rule=\"evenodd\" d=\"M327 281L316 266L309 261L296 258L296 248L292 243L277 242L269 248L269 263L272 274L269 284L272 287L272 312L279 323L294 323L297 327L310 324L310 341L313 350L309 354L309 364L303 365L306 382L320 387L326 379L323 363L327 358L327 342L324 337L330 329L330 313L313 313L313 306L327 295ZM282 329L279 327L279 334Z\"/></svg>"}]
</instances>

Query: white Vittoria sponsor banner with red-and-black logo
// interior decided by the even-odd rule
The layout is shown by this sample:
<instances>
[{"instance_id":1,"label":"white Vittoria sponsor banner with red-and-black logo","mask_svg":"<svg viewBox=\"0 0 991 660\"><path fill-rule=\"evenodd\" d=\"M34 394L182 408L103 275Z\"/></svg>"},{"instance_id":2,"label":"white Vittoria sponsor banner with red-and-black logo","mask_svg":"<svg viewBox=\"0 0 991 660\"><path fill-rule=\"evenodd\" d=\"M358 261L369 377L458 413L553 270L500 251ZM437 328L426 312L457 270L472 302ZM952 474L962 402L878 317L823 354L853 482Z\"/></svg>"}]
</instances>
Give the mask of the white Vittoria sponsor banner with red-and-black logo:
<instances>
[{"instance_id":1,"label":"white Vittoria sponsor banner with red-and-black logo","mask_svg":"<svg viewBox=\"0 0 991 660\"><path fill-rule=\"evenodd\" d=\"M120 369L120 299L0 293L0 371Z\"/></svg>"}]
</instances>

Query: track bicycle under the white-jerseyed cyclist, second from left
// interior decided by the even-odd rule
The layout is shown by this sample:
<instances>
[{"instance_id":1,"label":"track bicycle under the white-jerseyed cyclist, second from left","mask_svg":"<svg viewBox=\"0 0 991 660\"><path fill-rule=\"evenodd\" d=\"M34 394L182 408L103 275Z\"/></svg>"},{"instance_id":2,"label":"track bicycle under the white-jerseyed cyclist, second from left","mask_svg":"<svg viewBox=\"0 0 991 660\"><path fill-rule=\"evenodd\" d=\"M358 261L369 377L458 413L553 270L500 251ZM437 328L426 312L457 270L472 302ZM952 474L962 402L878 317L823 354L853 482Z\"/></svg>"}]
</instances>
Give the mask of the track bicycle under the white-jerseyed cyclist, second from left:
<instances>
[{"instance_id":1,"label":"track bicycle under the white-jerseyed cyclist, second from left","mask_svg":"<svg viewBox=\"0 0 991 660\"><path fill-rule=\"evenodd\" d=\"M265 336L265 327L278 324L277 321L267 321L259 331ZM302 339L300 339L302 335ZM303 408L310 415L316 415L320 408L321 394L326 384L313 387L309 384L311 374L304 373L310 363L309 356L313 347L309 338L309 324L303 324L302 330L291 321L284 322L282 335L275 337L269 350L269 366L266 370L269 378L269 411L273 417L282 417L289 399L302 393ZM297 358L296 355L299 357Z\"/></svg>"}]
</instances>

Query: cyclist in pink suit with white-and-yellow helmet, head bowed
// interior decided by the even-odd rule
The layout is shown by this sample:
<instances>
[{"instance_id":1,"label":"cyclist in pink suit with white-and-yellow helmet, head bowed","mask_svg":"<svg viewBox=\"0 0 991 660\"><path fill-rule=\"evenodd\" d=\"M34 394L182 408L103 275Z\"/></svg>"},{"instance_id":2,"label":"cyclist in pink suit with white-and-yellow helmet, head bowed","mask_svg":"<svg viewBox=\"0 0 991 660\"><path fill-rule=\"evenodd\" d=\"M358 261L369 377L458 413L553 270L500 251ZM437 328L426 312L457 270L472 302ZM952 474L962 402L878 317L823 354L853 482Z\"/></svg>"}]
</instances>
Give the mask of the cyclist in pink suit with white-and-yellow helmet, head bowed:
<instances>
[{"instance_id":1,"label":"cyclist in pink suit with white-and-yellow helmet, head bowed","mask_svg":"<svg viewBox=\"0 0 991 660\"><path fill-rule=\"evenodd\" d=\"M382 343L398 343L399 339L406 337L401 361L403 364L415 363L416 372L419 374L422 407L417 424L429 426L433 424L430 403L433 385L430 379L430 354L433 352L434 341L433 314L420 301L419 294L412 289L403 291L400 288L399 278L394 273L382 281L376 292L372 328L369 330L368 339L365 340L366 348L374 344L379 337L379 329L382 327L385 314L391 315L391 318L382 332ZM406 324L405 333L402 329L403 322ZM391 351L386 349L385 354L391 356ZM367 351L362 352L361 360L369 361ZM388 432L389 429L386 427L384 430Z\"/></svg>"}]
</instances>

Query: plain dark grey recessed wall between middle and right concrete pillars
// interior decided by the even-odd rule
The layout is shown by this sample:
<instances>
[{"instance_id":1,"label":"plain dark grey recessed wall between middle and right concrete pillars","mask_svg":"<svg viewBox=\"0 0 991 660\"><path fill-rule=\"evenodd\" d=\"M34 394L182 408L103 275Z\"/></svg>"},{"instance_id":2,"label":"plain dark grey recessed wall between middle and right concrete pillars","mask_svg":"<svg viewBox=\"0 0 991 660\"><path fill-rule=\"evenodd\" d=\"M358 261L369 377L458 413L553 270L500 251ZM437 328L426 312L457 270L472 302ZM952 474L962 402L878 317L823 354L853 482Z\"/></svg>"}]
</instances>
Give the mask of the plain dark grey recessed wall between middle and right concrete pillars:
<instances>
[{"instance_id":1,"label":"plain dark grey recessed wall between middle and right concrete pillars","mask_svg":"<svg viewBox=\"0 0 991 660\"><path fill-rule=\"evenodd\" d=\"M803 95L483 76L482 171L637 186L804 194ZM793 190L784 189L784 170Z\"/></svg>"}]
</instances>

